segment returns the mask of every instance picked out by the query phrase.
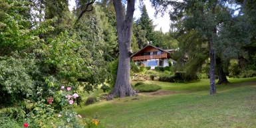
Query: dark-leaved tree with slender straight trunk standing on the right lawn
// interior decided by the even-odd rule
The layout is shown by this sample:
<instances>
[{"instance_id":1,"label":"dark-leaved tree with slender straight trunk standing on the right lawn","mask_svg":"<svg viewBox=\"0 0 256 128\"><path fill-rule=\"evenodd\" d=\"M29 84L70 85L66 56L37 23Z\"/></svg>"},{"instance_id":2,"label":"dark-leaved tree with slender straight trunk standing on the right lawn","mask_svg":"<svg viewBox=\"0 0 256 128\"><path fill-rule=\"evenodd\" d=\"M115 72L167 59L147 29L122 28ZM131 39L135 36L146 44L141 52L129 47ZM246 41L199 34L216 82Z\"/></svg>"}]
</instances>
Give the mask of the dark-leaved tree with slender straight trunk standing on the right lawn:
<instances>
[{"instance_id":1,"label":"dark-leaved tree with slender straight trunk standing on the right lawn","mask_svg":"<svg viewBox=\"0 0 256 128\"><path fill-rule=\"evenodd\" d=\"M170 19L172 21L178 22L178 31L181 33L197 32L199 38L195 38L198 42L199 40L203 40L203 43L207 45L209 50L209 58L210 58L210 94L215 94L215 54L223 54L224 51L229 51L231 49L235 49L235 47L225 46L225 43L221 43L221 38L227 36L225 34L226 30L232 29L229 26L233 22L233 18L231 15L233 14L233 10L226 5L227 1L153 1L152 4L156 6L156 9L165 10L168 5L172 5L174 7L174 12L170 13ZM229 4L234 1L228 1ZM161 7L159 7L161 6ZM159 11L159 10L158 10ZM237 23L239 25L240 23ZM235 26L235 25L233 25ZM240 26L241 27L241 26ZM235 31L239 32L239 38L244 38L241 35L246 32L247 27L237 28L233 27ZM222 32L221 32L222 31ZM235 35L234 30L229 31L229 35ZM219 34L221 33L221 34ZM196 37L196 36L195 36ZM237 36L238 37L238 36ZM189 38L189 37L188 37ZM232 36L233 38L233 36ZM191 40L192 41L192 40ZM239 43L246 43L232 40L226 40L227 43L233 43L233 46L239 46ZM192 43L193 42L184 42L184 43ZM197 43L195 43L196 45ZM201 43L199 43L201 44ZM219 53L218 47L224 47L225 50L222 50ZM190 48L190 47L188 47ZM216 51L217 50L217 51ZM229 53L229 52L227 52ZM231 53L229 54L231 55ZM220 70L223 70L219 68Z\"/></svg>"}]
</instances>

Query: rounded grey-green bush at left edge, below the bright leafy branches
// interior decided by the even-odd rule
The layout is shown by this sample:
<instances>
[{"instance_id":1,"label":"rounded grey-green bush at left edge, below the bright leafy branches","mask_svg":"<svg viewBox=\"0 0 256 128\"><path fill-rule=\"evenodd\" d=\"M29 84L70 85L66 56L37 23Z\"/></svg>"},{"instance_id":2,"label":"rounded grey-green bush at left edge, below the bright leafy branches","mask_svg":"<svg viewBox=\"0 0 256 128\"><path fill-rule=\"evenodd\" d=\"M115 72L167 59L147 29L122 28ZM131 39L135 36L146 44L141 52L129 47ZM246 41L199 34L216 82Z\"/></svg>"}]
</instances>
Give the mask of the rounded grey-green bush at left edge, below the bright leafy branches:
<instances>
[{"instance_id":1,"label":"rounded grey-green bush at left edge, below the bright leafy branches","mask_svg":"<svg viewBox=\"0 0 256 128\"><path fill-rule=\"evenodd\" d=\"M35 60L29 58L0 57L0 103L13 105L33 95L35 82L31 70L37 72Z\"/></svg>"}]
</instances>

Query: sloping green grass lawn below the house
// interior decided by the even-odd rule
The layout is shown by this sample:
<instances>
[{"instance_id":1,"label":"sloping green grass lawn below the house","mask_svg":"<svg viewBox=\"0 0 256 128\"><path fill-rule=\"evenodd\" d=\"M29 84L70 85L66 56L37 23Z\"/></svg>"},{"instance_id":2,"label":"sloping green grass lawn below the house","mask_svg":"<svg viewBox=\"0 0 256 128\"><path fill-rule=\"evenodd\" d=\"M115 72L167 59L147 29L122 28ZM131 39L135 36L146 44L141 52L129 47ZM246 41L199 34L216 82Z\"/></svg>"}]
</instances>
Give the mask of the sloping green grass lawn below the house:
<instances>
[{"instance_id":1,"label":"sloping green grass lawn below the house","mask_svg":"<svg viewBox=\"0 0 256 128\"><path fill-rule=\"evenodd\" d=\"M125 97L77 107L99 115L102 127L255 127L256 78L229 79L209 95L209 80L190 84L147 81L170 95Z\"/></svg>"}]
</instances>

